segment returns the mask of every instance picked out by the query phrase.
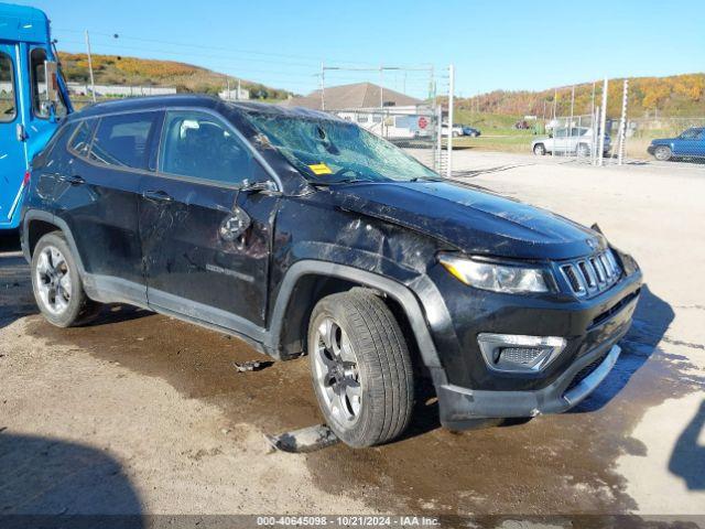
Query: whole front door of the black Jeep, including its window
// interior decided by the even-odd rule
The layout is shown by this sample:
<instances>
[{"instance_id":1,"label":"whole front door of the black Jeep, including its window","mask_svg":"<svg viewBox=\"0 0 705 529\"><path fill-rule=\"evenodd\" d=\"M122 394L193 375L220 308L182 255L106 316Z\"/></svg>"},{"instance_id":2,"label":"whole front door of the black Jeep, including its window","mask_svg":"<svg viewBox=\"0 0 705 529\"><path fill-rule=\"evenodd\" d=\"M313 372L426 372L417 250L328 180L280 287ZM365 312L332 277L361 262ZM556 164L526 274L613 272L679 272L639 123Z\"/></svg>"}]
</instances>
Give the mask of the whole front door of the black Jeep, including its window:
<instances>
[{"instance_id":1,"label":"whole front door of the black Jeep, including its window","mask_svg":"<svg viewBox=\"0 0 705 529\"><path fill-rule=\"evenodd\" d=\"M240 192L265 180L220 117L167 111L159 173L142 179L140 236L151 306L252 338L264 326L278 198ZM238 229L238 223L247 229Z\"/></svg>"}]
</instances>

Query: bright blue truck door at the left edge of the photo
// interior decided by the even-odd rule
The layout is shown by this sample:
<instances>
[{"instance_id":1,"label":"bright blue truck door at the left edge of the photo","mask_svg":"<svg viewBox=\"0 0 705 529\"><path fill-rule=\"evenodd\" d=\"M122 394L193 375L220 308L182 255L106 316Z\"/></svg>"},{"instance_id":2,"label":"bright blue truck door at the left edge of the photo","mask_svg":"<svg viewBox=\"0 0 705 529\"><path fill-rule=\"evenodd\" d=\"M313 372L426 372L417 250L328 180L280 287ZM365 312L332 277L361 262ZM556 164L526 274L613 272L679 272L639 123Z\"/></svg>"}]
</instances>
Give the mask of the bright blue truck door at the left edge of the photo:
<instances>
[{"instance_id":1,"label":"bright blue truck door at the left edge of the photo","mask_svg":"<svg viewBox=\"0 0 705 529\"><path fill-rule=\"evenodd\" d=\"M18 134L24 127L19 56L17 44L0 41L0 229L15 216L28 168L26 143Z\"/></svg>"}]
</instances>

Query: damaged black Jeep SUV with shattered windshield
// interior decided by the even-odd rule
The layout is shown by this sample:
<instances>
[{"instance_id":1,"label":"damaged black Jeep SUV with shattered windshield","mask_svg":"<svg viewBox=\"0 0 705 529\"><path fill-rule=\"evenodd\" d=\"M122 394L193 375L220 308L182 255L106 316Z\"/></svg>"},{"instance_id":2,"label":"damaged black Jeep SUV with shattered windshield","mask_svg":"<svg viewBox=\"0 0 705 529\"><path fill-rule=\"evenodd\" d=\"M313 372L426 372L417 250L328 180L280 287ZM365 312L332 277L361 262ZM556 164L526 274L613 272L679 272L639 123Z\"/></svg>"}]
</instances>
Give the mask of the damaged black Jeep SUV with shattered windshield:
<instances>
[{"instance_id":1,"label":"damaged black Jeep SUV with shattered windshield","mask_svg":"<svg viewBox=\"0 0 705 529\"><path fill-rule=\"evenodd\" d=\"M33 161L22 245L55 325L129 303L307 353L351 446L561 412L619 355L641 272L598 231L326 114L202 96L93 106Z\"/></svg>"}]
</instances>

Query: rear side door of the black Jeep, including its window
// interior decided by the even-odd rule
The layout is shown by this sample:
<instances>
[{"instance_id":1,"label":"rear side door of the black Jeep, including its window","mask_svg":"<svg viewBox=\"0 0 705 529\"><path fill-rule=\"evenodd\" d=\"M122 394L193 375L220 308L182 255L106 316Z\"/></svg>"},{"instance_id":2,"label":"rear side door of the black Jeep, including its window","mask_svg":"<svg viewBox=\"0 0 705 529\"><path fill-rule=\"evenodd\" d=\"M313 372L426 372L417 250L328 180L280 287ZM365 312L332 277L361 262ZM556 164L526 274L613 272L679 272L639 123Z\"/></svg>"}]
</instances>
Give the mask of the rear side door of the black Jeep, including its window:
<instances>
[{"instance_id":1,"label":"rear side door of the black Jeep, including its window","mask_svg":"<svg viewBox=\"0 0 705 529\"><path fill-rule=\"evenodd\" d=\"M116 301L147 301L140 179L150 174L151 142L162 116L140 111L84 120L68 142L69 163L57 169L63 185L57 215L68 224L86 271Z\"/></svg>"}]
</instances>

